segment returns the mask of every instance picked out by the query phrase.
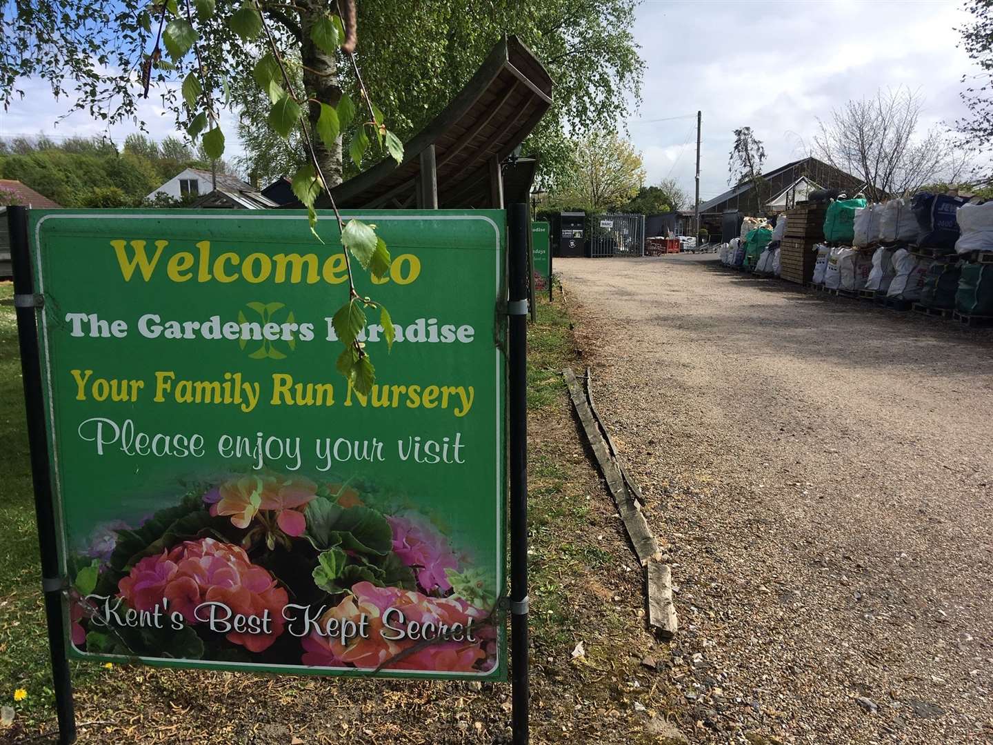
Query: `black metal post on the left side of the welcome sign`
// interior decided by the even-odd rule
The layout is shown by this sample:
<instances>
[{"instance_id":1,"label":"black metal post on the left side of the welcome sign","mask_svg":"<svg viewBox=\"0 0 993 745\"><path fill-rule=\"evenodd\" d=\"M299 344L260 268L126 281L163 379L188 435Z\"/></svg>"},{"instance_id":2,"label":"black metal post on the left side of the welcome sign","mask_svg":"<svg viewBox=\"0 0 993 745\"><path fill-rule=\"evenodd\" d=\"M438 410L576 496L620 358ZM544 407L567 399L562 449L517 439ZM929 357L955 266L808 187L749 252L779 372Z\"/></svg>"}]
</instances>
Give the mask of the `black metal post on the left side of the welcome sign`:
<instances>
[{"instance_id":1,"label":"black metal post on the left side of the welcome sign","mask_svg":"<svg viewBox=\"0 0 993 745\"><path fill-rule=\"evenodd\" d=\"M21 376L28 413L28 445L31 449L31 476L35 487L35 516L38 543L42 552L42 589L48 619L49 649L52 652L52 688L59 716L59 743L75 742L72 711L72 681L66 658L66 632L63 623L62 593L65 578L59 567L55 511L52 507L52 479L49 468L48 435L45 433L45 402L42 397L42 371L38 355L38 310L42 298L35 295L28 246L28 211L8 207L10 254L14 271L14 307L17 311L17 337L21 349Z\"/></svg>"}]
</instances>

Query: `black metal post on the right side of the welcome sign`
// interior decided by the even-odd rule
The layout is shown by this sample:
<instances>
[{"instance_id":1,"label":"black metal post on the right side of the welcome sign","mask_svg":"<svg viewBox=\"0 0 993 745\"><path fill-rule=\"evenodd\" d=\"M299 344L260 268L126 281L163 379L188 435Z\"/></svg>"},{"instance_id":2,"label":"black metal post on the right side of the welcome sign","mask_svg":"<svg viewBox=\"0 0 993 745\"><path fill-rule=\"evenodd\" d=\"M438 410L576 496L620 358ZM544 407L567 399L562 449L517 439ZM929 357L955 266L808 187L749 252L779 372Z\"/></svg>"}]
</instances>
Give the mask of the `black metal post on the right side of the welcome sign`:
<instances>
[{"instance_id":1,"label":"black metal post on the right side of the welcome sign","mask_svg":"<svg viewBox=\"0 0 993 745\"><path fill-rule=\"evenodd\" d=\"M514 745L528 742L527 707L527 252L531 232L526 204L510 205L509 347L510 418L510 698Z\"/></svg>"}]
</instances>

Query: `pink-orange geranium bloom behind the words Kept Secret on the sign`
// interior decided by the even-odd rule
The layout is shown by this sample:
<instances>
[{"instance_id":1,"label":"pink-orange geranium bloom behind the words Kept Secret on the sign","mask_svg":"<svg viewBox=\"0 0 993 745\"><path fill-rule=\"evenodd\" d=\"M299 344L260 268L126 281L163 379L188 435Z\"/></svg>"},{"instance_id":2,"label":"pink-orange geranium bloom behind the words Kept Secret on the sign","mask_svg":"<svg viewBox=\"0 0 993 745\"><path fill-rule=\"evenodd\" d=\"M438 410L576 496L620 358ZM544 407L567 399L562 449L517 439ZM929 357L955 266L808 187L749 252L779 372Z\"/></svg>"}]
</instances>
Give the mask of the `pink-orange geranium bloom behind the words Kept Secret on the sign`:
<instances>
[{"instance_id":1,"label":"pink-orange geranium bloom behind the words Kept Secret on the sign","mask_svg":"<svg viewBox=\"0 0 993 745\"><path fill-rule=\"evenodd\" d=\"M380 666L388 670L421 670L445 672L475 671L477 665L487 658L483 649L481 629L474 628L476 641L434 641L423 644L419 639L388 640L385 632L394 632L383 625L383 616L390 608L403 614L403 623L395 613L389 619L393 628L406 628L411 621L418 624L434 624L439 630L444 624L451 628L461 624L463 629L471 619L482 620L484 614L456 598L432 598L419 592L401 590L396 587L376 587L369 582L358 582L351 595L332 608L321 618L321 626L326 628L331 619L353 621L357 625L362 616L367 620L367 638L356 637L342 644L340 638L321 636L314 632L304 642L304 665L325 665L323 661L333 661L327 665L353 665L363 670L375 670ZM423 645L423 646L422 646ZM420 647L416 652L411 648ZM401 653L408 654L402 659L394 659Z\"/></svg>"}]
</instances>

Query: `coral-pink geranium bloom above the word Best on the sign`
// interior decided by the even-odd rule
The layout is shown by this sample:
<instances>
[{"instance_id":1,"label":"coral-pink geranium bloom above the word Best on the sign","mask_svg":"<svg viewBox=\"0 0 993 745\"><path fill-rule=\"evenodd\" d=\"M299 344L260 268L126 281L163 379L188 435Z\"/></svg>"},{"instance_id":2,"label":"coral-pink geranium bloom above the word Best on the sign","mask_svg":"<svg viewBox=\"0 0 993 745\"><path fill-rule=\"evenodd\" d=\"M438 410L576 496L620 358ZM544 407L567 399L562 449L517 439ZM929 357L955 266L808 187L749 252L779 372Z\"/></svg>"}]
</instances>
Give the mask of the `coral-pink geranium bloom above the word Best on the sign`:
<instances>
[{"instance_id":1,"label":"coral-pink geranium bloom above the word Best on the sign","mask_svg":"<svg viewBox=\"0 0 993 745\"><path fill-rule=\"evenodd\" d=\"M251 563L244 549L213 538L187 540L146 556L117 587L132 608L152 611L168 600L169 612L180 612L191 625L202 623L197 607L206 602L222 603L232 614L259 619L268 611L269 633L226 635L249 652L268 649L283 633L283 608L289 601L286 590L266 569Z\"/></svg>"}]
</instances>

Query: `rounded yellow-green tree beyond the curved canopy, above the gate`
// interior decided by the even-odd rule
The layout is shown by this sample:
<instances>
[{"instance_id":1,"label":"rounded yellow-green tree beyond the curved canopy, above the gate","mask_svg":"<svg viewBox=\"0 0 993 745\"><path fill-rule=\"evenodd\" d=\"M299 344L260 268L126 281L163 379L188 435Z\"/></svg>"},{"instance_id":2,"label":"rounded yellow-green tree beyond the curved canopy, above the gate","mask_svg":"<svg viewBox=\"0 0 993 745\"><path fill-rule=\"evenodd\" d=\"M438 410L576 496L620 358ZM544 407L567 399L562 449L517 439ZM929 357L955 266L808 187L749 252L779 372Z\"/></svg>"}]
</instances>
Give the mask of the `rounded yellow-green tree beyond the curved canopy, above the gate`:
<instances>
[{"instance_id":1,"label":"rounded yellow-green tree beyond the curved canopy, above the gate","mask_svg":"<svg viewBox=\"0 0 993 745\"><path fill-rule=\"evenodd\" d=\"M628 204L643 184L641 156L632 144L617 134L594 132L576 144L572 178L551 200L603 212Z\"/></svg>"}]
</instances>

